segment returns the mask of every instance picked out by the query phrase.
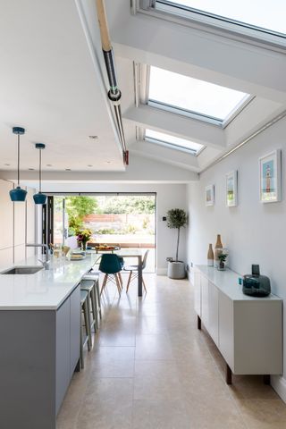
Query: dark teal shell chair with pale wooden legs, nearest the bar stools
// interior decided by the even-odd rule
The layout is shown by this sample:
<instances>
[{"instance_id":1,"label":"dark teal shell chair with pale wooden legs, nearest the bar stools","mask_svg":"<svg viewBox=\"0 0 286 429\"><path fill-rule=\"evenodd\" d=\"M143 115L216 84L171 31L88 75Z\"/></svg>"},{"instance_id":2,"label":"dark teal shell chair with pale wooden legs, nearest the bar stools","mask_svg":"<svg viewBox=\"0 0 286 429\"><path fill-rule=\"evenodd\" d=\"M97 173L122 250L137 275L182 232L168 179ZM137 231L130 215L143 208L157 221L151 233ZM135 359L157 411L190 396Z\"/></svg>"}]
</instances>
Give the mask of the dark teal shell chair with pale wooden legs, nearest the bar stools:
<instances>
[{"instance_id":1,"label":"dark teal shell chair with pale wooden legs, nearest the bar stools","mask_svg":"<svg viewBox=\"0 0 286 429\"><path fill-rule=\"evenodd\" d=\"M106 283L109 280L116 284L118 293L120 295L122 291L122 280L119 275L119 273L122 271L122 264L120 258L113 253L105 253L101 257L98 269L102 273L105 273L105 278L102 283L100 295L102 294L103 290L105 289Z\"/></svg>"}]
</instances>

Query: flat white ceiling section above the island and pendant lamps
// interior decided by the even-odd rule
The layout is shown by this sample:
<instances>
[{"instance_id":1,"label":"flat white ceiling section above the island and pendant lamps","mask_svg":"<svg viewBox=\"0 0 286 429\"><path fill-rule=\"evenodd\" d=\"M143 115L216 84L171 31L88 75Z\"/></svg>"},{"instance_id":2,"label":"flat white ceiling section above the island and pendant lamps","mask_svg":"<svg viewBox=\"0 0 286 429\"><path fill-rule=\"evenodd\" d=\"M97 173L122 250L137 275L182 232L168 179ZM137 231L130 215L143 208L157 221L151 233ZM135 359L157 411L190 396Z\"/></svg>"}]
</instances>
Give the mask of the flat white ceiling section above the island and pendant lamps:
<instances>
[{"instance_id":1,"label":"flat white ceiling section above the island and pendant lamps","mask_svg":"<svg viewBox=\"0 0 286 429\"><path fill-rule=\"evenodd\" d=\"M0 40L0 170L15 169L12 127L19 125L27 130L23 170L38 167L34 143L42 142L44 170L123 171L106 91L75 2L2 2Z\"/></svg>"}]
</instances>

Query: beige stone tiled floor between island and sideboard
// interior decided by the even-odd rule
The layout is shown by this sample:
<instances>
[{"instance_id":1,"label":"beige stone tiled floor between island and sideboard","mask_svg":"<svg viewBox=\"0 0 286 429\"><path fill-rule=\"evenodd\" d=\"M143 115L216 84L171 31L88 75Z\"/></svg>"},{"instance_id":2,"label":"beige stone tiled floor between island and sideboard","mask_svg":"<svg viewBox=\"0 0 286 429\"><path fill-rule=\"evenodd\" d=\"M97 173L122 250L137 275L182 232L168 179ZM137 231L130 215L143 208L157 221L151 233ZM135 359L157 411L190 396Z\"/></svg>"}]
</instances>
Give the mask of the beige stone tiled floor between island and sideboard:
<instances>
[{"instance_id":1,"label":"beige stone tiled floor between island and sideboard","mask_svg":"<svg viewBox=\"0 0 286 429\"><path fill-rule=\"evenodd\" d=\"M286 405L261 377L224 383L223 359L197 329L189 282L145 279L140 300L135 283L121 299L108 285L100 333L57 429L285 429Z\"/></svg>"}]
</instances>

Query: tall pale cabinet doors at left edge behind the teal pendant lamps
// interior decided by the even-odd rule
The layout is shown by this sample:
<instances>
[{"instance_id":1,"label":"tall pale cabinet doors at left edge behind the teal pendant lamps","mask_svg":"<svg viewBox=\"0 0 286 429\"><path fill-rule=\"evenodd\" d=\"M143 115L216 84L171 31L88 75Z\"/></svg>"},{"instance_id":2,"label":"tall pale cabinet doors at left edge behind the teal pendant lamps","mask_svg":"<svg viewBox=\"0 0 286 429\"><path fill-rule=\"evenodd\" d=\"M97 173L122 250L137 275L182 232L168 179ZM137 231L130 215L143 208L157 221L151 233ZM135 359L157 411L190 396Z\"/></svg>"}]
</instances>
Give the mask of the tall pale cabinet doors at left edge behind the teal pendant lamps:
<instances>
[{"instance_id":1,"label":"tall pale cabinet doors at left edge behind the teal pendant lamps","mask_svg":"<svg viewBox=\"0 0 286 429\"><path fill-rule=\"evenodd\" d=\"M35 241L34 189L27 189L25 203L13 203L11 189L11 181L0 180L0 266L19 263L34 253L34 249L25 246Z\"/></svg>"}]
</instances>

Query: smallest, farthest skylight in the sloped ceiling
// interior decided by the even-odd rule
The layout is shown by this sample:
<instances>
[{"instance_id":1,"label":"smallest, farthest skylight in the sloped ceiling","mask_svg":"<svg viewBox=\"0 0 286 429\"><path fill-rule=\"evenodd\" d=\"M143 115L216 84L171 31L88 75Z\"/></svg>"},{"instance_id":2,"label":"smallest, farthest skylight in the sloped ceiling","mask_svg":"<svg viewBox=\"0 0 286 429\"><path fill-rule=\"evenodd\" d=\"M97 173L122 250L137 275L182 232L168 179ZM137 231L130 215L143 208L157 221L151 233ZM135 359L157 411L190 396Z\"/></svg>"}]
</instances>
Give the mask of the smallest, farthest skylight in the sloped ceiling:
<instances>
[{"instance_id":1,"label":"smallest, farthest skylight in the sloped ceiling","mask_svg":"<svg viewBox=\"0 0 286 429\"><path fill-rule=\"evenodd\" d=\"M170 134L164 134L163 132L158 132L154 130L146 130L145 139L152 143L156 143L157 145L169 147L171 149L182 150L184 152L189 152L192 155L198 155L204 147L203 145L199 145L194 141L180 139L179 137L174 137Z\"/></svg>"}]
</instances>

